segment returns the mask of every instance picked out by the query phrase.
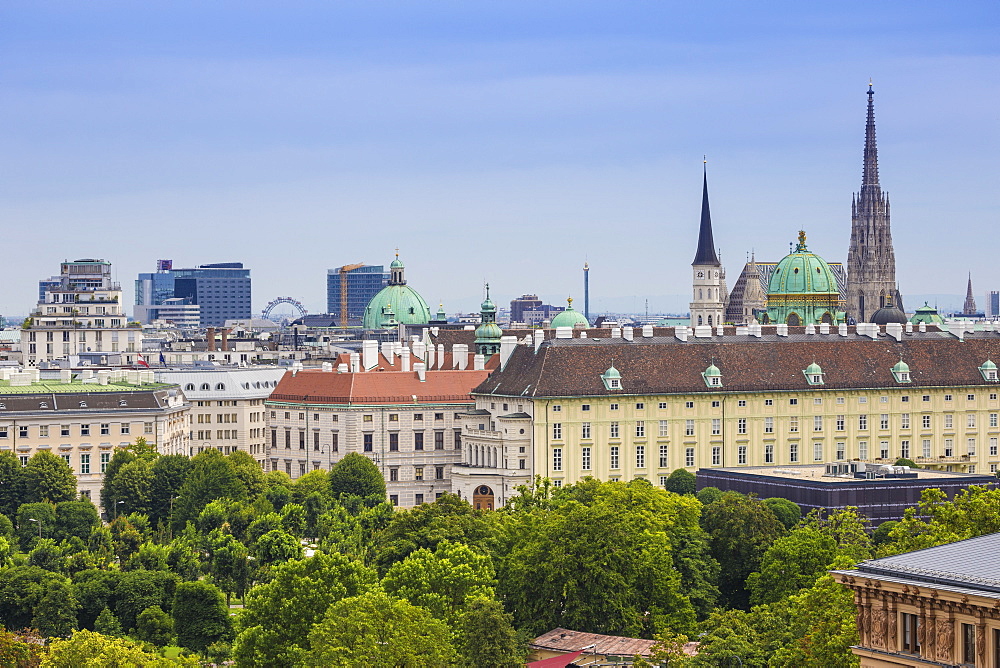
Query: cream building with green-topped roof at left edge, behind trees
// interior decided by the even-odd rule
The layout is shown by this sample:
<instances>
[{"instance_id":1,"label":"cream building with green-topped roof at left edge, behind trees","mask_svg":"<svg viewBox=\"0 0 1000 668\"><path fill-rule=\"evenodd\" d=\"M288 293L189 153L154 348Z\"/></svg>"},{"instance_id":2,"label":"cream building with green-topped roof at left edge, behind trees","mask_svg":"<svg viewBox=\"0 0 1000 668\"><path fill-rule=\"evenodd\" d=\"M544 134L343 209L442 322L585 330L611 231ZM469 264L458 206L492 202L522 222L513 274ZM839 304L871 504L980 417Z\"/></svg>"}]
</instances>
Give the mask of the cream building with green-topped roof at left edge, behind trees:
<instances>
[{"instance_id":1,"label":"cream building with green-topped roof at left edge, behind trees","mask_svg":"<svg viewBox=\"0 0 1000 668\"><path fill-rule=\"evenodd\" d=\"M77 489L100 502L114 449L138 437L161 454L187 454L190 405L176 385L154 382L150 371L64 369L43 380L38 369L0 369L0 450L21 464L40 450L59 455Z\"/></svg>"}]
</instances>

